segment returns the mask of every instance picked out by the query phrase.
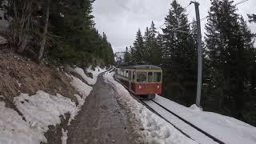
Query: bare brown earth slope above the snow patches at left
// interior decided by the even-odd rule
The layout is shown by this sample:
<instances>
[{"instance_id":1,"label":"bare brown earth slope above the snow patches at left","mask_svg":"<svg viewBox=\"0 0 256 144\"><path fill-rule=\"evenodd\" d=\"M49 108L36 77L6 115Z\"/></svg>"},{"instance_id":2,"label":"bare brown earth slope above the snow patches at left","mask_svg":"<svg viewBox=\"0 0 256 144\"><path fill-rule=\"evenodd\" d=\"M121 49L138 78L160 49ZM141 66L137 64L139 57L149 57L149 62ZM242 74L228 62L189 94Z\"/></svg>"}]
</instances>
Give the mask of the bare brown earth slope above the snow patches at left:
<instances>
[{"instance_id":1,"label":"bare brown earth slope above the snow patches at left","mask_svg":"<svg viewBox=\"0 0 256 144\"><path fill-rule=\"evenodd\" d=\"M0 50L0 95L12 102L20 93L35 94L44 90L62 94L76 101L70 79L57 68L31 61L10 50Z\"/></svg>"}]
</instances>

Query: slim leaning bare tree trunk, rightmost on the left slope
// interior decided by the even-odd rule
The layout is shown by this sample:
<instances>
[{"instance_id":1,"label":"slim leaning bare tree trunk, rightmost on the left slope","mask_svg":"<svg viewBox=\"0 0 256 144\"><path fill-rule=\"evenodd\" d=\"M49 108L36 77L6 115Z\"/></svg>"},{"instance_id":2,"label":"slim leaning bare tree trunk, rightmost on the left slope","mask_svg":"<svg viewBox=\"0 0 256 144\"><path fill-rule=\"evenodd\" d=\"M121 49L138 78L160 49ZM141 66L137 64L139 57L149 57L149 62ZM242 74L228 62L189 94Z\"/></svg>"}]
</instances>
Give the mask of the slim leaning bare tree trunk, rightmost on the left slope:
<instances>
[{"instance_id":1,"label":"slim leaning bare tree trunk, rightmost on the left slope","mask_svg":"<svg viewBox=\"0 0 256 144\"><path fill-rule=\"evenodd\" d=\"M44 30L43 30L40 51L39 51L39 54L38 54L38 61L42 60L43 52L44 52L45 47L46 47L46 37L47 37L48 25L49 25L49 14L50 14L50 0L47 1L45 27L44 27Z\"/></svg>"}]
</instances>

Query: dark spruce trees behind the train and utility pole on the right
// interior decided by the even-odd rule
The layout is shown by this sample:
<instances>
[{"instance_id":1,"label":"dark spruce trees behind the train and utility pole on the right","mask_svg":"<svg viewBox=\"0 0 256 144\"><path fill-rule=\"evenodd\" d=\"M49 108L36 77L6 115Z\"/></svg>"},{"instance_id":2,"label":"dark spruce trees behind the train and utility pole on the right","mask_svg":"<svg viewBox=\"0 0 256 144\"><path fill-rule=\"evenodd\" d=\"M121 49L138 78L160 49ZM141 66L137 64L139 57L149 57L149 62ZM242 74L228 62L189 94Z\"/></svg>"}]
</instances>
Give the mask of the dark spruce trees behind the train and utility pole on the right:
<instances>
[{"instance_id":1,"label":"dark spruce trees behind the train and utility pole on the right","mask_svg":"<svg viewBox=\"0 0 256 144\"><path fill-rule=\"evenodd\" d=\"M255 14L248 14L256 22ZM161 32L154 22L134 45L126 47L125 62L161 66L163 93L184 106L195 103L197 87L197 27L186 9L170 4ZM233 1L211 2L203 42L202 108L256 126L255 34ZM181 32L183 31L183 32Z\"/></svg>"}]
</instances>

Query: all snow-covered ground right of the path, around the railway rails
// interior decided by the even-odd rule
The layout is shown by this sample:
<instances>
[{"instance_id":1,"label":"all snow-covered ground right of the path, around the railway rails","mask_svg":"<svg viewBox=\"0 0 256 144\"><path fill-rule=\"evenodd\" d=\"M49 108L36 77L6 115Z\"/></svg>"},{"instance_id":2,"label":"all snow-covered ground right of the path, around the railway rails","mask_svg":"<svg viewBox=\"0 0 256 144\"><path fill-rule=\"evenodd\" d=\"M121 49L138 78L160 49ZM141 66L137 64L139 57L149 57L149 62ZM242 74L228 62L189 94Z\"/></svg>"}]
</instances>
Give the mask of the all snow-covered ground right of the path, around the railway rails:
<instances>
[{"instance_id":1,"label":"all snow-covered ground right of the path, around the railway rails","mask_svg":"<svg viewBox=\"0 0 256 144\"><path fill-rule=\"evenodd\" d=\"M151 113L145 106L142 106L142 104L134 100L120 83L114 81L113 74L105 74L104 78L106 82L112 84L115 90L118 91L120 96L119 99L126 107L130 108L130 112L134 114L134 118L137 118L138 121L142 123L142 127L145 129L142 133L145 134L146 139L149 139L150 142L192 142L190 139L181 136L182 134L179 133L178 130L175 130L169 123ZM175 114L178 114L178 116L186 119L186 121L194 124L194 126L204 130L206 133L218 138L222 142L227 144L256 143L256 128L245 122L221 114L202 111L195 105L190 107L182 106L169 99L162 98L161 96L157 96L154 101L166 107L168 110L173 111ZM174 126L177 126L178 129L188 134L190 138L194 139L196 142L204 144L217 143L173 114L170 114L156 103L148 101L146 104L174 124ZM181 142L176 141L177 139Z\"/></svg>"}]
</instances>

